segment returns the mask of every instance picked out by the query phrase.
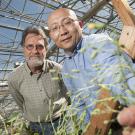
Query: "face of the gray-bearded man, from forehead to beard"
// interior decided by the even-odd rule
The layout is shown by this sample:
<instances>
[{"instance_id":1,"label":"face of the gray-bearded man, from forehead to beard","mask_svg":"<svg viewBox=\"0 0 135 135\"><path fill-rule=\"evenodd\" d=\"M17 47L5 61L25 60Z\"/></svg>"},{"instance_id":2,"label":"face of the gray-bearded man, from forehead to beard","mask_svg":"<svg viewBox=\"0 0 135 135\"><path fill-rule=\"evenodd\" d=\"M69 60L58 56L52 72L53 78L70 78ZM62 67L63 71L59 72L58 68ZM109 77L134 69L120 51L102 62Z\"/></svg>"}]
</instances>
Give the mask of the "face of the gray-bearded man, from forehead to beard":
<instances>
[{"instance_id":1,"label":"face of the gray-bearded man, from forehead to beard","mask_svg":"<svg viewBox=\"0 0 135 135\"><path fill-rule=\"evenodd\" d=\"M46 56L44 39L40 35L28 34L24 43L24 55L30 67L41 66Z\"/></svg>"}]
</instances>

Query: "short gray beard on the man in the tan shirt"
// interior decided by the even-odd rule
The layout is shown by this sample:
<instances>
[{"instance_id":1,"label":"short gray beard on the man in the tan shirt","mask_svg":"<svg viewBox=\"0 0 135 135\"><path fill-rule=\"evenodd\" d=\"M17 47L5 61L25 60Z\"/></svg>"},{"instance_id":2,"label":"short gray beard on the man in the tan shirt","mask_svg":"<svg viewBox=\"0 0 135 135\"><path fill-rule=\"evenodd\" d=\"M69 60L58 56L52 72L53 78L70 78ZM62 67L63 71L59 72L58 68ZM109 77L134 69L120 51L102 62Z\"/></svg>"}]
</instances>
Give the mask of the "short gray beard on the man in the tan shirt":
<instances>
[{"instance_id":1,"label":"short gray beard on the man in the tan shirt","mask_svg":"<svg viewBox=\"0 0 135 135\"><path fill-rule=\"evenodd\" d=\"M28 63L28 65L31 68L39 67L39 66L43 65L43 60L41 60L40 58L37 58L37 57L35 57L34 59L26 58L26 62Z\"/></svg>"}]
</instances>

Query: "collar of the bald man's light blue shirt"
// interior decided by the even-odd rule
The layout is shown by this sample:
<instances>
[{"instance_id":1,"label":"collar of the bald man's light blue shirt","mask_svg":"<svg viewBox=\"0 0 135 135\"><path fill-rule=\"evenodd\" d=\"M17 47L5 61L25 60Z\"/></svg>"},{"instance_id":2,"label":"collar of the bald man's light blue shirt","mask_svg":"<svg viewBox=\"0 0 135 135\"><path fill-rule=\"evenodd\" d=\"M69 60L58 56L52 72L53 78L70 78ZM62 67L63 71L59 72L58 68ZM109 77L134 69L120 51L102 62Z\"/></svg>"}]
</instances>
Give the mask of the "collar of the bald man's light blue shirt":
<instances>
[{"instance_id":1,"label":"collar of the bald man's light blue shirt","mask_svg":"<svg viewBox=\"0 0 135 135\"><path fill-rule=\"evenodd\" d=\"M65 52L65 58L72 58L73 56L75 56L77 54L77 52L81 49L82 46L82 40L83 38L80 39L80 41L77 43L73 53L71 52Z\"/></svg>"}]
</instances>

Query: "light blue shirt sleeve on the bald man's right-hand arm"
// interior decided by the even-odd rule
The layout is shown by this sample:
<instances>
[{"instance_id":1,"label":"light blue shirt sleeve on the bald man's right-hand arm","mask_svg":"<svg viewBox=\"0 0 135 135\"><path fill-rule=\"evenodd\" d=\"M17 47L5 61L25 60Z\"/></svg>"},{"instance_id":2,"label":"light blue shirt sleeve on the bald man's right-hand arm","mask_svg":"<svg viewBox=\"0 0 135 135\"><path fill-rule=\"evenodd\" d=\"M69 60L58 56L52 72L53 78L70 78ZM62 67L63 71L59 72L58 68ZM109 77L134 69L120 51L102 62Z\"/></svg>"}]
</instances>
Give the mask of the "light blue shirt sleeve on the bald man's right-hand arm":
<instances>
[{"instance_id":1,"label":"light blue shirt sleeve on the bald man's right-hand arm","mask_svg":"<svg viewBox=\"0 0 135 135\"><path fill-rule=\"evenodd\" d=\"M111 90L112 96L123 104L135 102L135 74L122 51L110 39L99 43L95 67L101 87Z\"/></svg>"}]
</instances>

